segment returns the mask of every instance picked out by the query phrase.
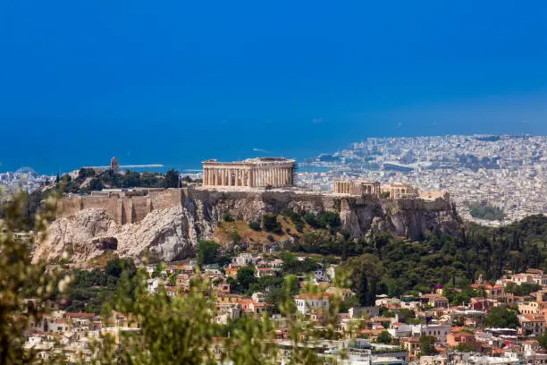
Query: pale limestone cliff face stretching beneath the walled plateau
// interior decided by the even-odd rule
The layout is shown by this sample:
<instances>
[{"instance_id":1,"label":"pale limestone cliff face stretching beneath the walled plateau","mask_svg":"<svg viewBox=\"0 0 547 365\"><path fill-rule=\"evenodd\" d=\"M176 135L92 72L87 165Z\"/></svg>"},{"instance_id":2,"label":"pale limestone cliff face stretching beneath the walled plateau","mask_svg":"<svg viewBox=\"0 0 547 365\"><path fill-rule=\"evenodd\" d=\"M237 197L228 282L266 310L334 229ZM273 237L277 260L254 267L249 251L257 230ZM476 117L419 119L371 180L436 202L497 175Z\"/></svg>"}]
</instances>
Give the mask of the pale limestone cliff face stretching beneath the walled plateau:
<instances>
[{"instance_id":1,"label":"pale limestone cliff face stretching beneath the walled plateau","mask_svg":"<svg viewBox=\"0 0 547 365\"><path fill-rule=\"evenodd\" d=\"M353 237L374 230L387 230L417 239L425 231L458 233L459 217L443 199L385 200L375 197L337 198L333 195L297 191L213 191L183 189L180 201L151 210L141 220L121 225L112 209L82 208L61 216L38 243L34 260L57 260L64 251L74 262L83 262L115 250L122 257L139 259L145 253L158 259L184 259L194 253L199 239L213 238L215 227L226 213L237 220L258 221L265 213L283 208L319 213L337 211L344 229ZM90 198L92 199L92 198ZM97 204L94 203L96 206ZM131 203L132 204L132 203ZM85 207L85 202L80 202ZM115 201L109 206L115 206Z\"/></svg>"}]
</instances>

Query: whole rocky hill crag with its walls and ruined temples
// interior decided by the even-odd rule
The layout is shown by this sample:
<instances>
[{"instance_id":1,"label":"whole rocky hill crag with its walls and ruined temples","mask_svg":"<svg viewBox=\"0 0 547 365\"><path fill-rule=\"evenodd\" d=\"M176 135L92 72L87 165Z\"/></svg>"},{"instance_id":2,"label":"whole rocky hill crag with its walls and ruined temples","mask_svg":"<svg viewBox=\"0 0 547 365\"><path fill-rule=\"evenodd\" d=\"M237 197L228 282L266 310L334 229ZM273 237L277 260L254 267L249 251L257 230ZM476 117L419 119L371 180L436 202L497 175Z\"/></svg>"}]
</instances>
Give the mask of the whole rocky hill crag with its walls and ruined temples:
<instances>
[{"instance_id":1,"label":"whole rocky hill crag with its walls and ruined temples","mask_svg":"<svg viewBox=\"0 0 547 365\"><path fill-rule=\"evenodd\" d=\"M211 165L211 161L204 163ZM103 190L64 197L59 202L59 218L50 227L46 242L38 245L35 259L59 259L67 249L74 252L76 260L97 257L105 250L137 258L148 250L159 259L183 259L193 254L198 240L215 238L223 216L244 222L260 221L266 213L278 215L284 208L316 214L337 212L343 229L352 237L371 231L410 239L418 239L426 231L459 232L459 216L448 196L421 196L407 186L384 187L382 191L377 185L369 187L362 181L338 182L332 193L320 194L290 186L292 178L282 170L277 174L263 171L265 174L260 176L240 174L227 164L211 168L227 172L207 172L208 176L216 176L211 183L219 185ZM248 166L243 169L251 170ZM250 177L257 176L263 179L258 180L259 184L266 186L239 186L235 184L236 176L240 182L248 183ZM223 186L223 182L228 186ZM278 186L273 188L271 183ZM396 189L399 195L393 191L391 198L385 189ZM293 233L283 239L299 240L299 235Z\"/></svg>"}]
</instances>

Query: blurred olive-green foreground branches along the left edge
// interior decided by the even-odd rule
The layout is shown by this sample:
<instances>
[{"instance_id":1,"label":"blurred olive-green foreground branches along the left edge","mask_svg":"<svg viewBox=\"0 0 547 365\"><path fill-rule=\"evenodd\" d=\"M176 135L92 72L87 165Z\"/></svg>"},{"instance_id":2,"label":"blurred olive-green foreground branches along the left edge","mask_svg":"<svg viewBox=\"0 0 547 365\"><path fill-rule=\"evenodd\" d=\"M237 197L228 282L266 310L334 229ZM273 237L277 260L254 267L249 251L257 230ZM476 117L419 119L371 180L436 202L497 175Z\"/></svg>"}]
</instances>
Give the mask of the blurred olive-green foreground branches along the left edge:
<instances>
[{"instance_id":1,"label":"blurred olive-green foreground branches along the left edge","mask_svg":"<svg viewBox=\"0 0 547 365\"><path fill-rule=\"evenodd\" d=\"M24 332L31 320L42 318L46 300L55 291L64 292L71 276L61 280L57 269L46 270L44 263L31 263L30 245L18 242L25 217L25 195L18 195L5 206L0 219L0 364L27 364L35 359L24 349ZM50 196L36 216L35 229L43 237L46 222L55 214L55 197ZM33 298L27 301L27 298Z\"/></svg>"}]
</instances>

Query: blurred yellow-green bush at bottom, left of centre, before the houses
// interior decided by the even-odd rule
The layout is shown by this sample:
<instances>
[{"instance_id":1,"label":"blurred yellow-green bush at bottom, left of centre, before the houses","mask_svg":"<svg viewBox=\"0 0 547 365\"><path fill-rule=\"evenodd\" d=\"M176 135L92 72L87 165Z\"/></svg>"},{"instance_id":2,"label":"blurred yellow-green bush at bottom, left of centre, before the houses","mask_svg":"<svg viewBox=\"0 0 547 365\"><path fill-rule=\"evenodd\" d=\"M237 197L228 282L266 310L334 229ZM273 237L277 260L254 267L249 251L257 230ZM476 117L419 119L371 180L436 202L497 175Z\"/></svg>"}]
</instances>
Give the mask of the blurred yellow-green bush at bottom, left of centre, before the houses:
<instances>
[{"instance_id":1,"label":"blurred yellow-green bush at bottom, left of centre, before the houses","mask_svg":"<svg viewBox=\"0 0 547 365\"><path fill-rule=\"evenodd\" d=\"M134 301L118 301L116 309L131 313L138 332L103 335L94 344L93 364L273 364L276 348L269 318L242 318L231 327L230 337L215 324L216 306L209 298L210 284L201 276L192 279L189 293L169 297L163 291L147 293L146 274L139 271ZM122 291L119 298L125 297ZM215 349L220 359L215 358Z\"/></svg>"}]
</instances>

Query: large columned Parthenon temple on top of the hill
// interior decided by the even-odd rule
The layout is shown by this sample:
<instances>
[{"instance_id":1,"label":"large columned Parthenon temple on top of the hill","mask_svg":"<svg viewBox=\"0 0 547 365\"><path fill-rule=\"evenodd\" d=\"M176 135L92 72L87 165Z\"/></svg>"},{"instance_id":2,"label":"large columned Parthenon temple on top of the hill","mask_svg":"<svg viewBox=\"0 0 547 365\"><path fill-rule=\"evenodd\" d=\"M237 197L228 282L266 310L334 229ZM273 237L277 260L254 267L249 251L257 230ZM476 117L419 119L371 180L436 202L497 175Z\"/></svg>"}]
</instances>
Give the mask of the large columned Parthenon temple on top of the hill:
<instances>
[{"instance_id":1,"label":"large columned Parthenon temple on top of the hill","mask_svg":"<svg viewBox=\"0 0 547 365\"><path fill-rule=\"evenodd\" d=\"M236 162L203 162L203 186L280 188L294 183L295 160L259 157Z\"/></svg>"}]
</instances>

